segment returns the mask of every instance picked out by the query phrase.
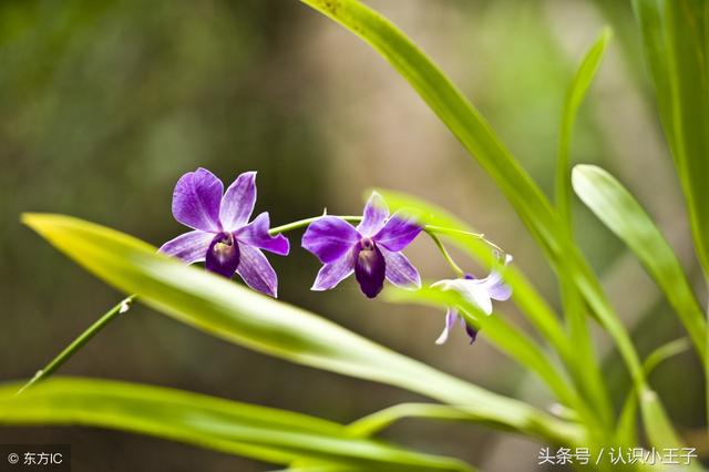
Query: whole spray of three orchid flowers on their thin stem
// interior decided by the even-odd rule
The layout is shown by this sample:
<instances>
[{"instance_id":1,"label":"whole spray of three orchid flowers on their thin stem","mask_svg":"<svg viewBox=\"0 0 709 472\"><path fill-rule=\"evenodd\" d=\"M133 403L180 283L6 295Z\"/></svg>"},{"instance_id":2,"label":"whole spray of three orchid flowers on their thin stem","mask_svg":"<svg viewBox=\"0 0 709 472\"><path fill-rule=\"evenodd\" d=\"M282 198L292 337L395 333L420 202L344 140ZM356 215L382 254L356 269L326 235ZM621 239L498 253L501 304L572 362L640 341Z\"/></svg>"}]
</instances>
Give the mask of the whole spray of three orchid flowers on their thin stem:
<instances>
[{"instance_id":1,"label":"whole spray of three orchid flowers on their thin stem","mask_svg":"<svg viewBox=\"0 0 709 472\"><path fill-rule=\"evenodd\" d=\"M240 174L226 192L222 181L206 168L188 172L175 185L172 209L175 219L193 230L168 240L160 252L187 264L204 261L207 270L227 278L238 274L254 290L277 297L278 277L263 250L287 256L290 244L270 228L268 212L249 223L255 204L256 172ZM359 224L352 226L348 219ZM322 263L311 290L335 288L352 274L368 298L379 295L384 280L405 289L421 287L419 271L402 250L423 232L423 226L403 212L390 215L377 192L369 197L361 218L348 219L322 215L302 220L302 225L286 225L288 229L307 225L301 245ZM493 247L499 253L497 246ZM452 263L450 256L444 255ZM510 255L500 257L504 265L512 260ZM458 266L454 269L460 270ZM461 278L436 281L431 287L460 293L485 315L492 314L493 299L506 300L512 295L500 273L494 270L484 278L465 274ZM456 321L465 328L471 343L475 340L477 329L460 316L462 309L449 308L445 328L436 343L445 342Z\"/></svg>"}]
</instances>

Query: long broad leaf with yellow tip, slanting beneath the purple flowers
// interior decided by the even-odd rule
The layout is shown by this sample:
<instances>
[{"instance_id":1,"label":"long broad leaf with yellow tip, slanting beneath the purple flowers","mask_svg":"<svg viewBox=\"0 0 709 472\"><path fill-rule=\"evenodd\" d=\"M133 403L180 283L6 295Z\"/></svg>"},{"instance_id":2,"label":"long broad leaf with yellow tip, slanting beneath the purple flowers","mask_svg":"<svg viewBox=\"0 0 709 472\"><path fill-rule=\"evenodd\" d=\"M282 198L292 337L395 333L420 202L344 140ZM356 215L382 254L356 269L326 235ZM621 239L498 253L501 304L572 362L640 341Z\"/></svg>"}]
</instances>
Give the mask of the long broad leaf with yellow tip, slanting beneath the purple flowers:
<instances>
[{"instance_id":1,"label":"long broad leaf with yellow tip, slanting beneath the purple flowers","mask_svg":"<svg viewBox=\"0 0 709 472\"><path fill-rule=\"evenodd\" d=\"M89 271L175 319L292 362L401 387L467 406L472 419L546 440L578 437L575 427L513 399L440 372L300 308L156 254L116 230L61 216L24 223Z\"/></svg>"}]
</instances>

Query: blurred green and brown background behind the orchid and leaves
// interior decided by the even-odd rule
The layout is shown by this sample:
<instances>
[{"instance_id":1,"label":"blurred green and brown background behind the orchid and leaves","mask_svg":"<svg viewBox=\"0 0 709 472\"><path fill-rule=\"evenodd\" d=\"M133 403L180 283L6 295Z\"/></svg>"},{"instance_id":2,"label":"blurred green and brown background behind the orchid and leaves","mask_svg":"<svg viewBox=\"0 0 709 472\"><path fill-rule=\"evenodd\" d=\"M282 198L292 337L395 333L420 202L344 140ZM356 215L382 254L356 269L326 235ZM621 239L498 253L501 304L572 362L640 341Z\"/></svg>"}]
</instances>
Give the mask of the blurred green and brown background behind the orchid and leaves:
<instances>
[{"instance_id":1,"label":"blurred green and brown background behind the orchid and leaves","mask_svg":"<svg viewBox=\"0 0 709 472\"><path fill-rule=\"evenodd\" d=\"M617 175L659 222L693 280L677 178L656 119L629 1L378 0L490 120L548 194L562 100L604 24L616 34L574 136L574 160ZM197 166L224 181L258 171L257 211L274 224L357 214L371 186L429 198L515 256L558 306L541 252L481 168L367 45L295 0L65 0L0 3L0 380L30 377L120 299L19 223L21 212L75 215L155 245L183 228L177 178ZM682 331L636 260L580 205L578 239L640 352ZM297 243L300 234L292 234ZM545 390L443 314L368 301L348 280L308 289L319 264L298 249L270 257L282 299L489 389L546 407ZM434 246L409 250L424 277L451 274ZM479 267L465 267L482 275ZM698 287L702 299L706 297ZM501 309L518 319L513 304ZM598 332L616 397L627 374ZM352 421L425 400L265 357L136 306L63 373L191 389ZM682 434L702 427L692 353L651 378ZM384 437L491 471L537 468L540 444L452 423L405 421ZM0 429L0 443L71 443L78 471L265 471L271 464L97 429ZM701 444L697 444L700 447ZM703 451L707 453L706 449Z\"/></svg>"}]
</instances>

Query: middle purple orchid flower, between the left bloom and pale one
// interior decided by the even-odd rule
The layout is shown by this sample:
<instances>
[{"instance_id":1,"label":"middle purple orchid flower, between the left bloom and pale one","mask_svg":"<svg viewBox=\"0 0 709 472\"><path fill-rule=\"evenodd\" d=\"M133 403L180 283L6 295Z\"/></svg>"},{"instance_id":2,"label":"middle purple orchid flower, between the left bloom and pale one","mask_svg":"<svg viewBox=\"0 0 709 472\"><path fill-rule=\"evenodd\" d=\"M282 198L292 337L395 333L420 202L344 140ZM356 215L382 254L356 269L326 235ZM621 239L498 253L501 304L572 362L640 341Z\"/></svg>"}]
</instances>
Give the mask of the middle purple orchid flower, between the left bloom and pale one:
<instances>
[{"instance_id":1,"label":"middle purple orchid flower, between the left bloom and pale one","mask_svg":"<svg viewBox=\"0 0 709 472\"><path fill-rule=\"evenodd\" d=\"M361 223L353 227L342 218L323 216L302 236L302 247L323 264L312 290L328 290L354 273L362 293L374 298L390 283L421 287L415 267L401 254L421 233L421 226L400 214L389 217L384 199L373 192Z\"/></svg>"}]
</instances>

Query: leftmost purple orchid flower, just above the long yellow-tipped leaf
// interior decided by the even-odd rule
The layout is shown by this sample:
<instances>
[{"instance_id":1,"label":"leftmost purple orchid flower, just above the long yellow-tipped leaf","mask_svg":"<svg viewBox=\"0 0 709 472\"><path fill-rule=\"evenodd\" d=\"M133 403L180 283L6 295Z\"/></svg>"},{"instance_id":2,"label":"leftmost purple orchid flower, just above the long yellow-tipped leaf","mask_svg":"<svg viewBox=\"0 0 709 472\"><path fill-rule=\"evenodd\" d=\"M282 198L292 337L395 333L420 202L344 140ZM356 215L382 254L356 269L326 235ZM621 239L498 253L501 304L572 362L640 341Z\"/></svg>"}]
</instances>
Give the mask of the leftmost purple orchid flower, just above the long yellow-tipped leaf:
<instances>
[{"instance_id":1,"label":"leftmost purple orchid flower, just above the long yellow-tipped leaf","mask_svg":"<svg viewBox=\"0 0 709 472\"><path fill-rule=\"evenodd\" d=\"M273 297L278 277L261 249L288 255L284 235L268 234L270 220L264 212L248 219L256 203L256 172L245 172L224 193L224 184L206 168L183 175L173 193L173 215L193 228L168 240L160 252L187 264L205 261L207 270L232 278L237 273L254 290Z\"/></svg>"}]
</instances>

